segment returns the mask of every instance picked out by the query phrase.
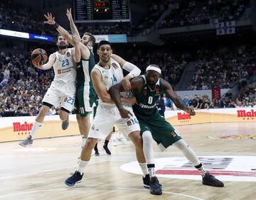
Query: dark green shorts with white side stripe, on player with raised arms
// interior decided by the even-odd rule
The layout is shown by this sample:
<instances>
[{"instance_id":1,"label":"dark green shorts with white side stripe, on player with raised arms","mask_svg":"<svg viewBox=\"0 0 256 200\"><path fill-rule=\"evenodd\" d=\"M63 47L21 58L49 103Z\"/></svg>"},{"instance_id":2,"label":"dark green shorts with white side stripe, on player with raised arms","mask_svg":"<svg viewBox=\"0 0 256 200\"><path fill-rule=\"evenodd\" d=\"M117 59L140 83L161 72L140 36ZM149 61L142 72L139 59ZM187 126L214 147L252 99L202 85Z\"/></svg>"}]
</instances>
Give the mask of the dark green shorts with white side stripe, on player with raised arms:
<instances>
[{"instance_id":1,"label":"dark green shorts with white side stripe, on player with raised arms","mask_svg":"<svg viewBox=\"0 0 256 200\"><path fill-rule=\"evenodd\" d=\"M75 113L80 116L87 116L92 113L92 105L97 99L97 94L92 85L77 87L75 95Z\"/></svg>"}]
</instances>

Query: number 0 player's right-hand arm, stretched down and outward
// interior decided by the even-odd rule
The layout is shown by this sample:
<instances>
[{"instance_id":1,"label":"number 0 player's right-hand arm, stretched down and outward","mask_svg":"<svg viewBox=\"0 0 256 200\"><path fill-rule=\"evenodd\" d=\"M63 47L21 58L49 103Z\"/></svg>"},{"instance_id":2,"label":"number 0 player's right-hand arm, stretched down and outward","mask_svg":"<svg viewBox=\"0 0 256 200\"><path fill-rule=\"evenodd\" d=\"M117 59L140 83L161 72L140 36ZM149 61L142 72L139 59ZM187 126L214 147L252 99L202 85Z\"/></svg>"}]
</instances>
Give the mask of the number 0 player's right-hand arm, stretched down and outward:
<instances>
[{"instance_id":1,"label":"number 0 player's right-hand arm, stretched down and outward","mask_svg":"<svg viewBox=\"0 0 256 200\"><path fill-rule=\"evenodd\" d=\"M164 91L166 92L166 96L168 96L171 101L174 101L175 106L177 106L178 109L181 109L185 111L186 113L191 114L191 116L196 115L193 108L186 106L186 104L183 103L181 98L176 94L174 89L172 89L171 84L169 82L166 82L166 80L161 79L161 84L164 88Z\"/></svg>"}]
</instances>

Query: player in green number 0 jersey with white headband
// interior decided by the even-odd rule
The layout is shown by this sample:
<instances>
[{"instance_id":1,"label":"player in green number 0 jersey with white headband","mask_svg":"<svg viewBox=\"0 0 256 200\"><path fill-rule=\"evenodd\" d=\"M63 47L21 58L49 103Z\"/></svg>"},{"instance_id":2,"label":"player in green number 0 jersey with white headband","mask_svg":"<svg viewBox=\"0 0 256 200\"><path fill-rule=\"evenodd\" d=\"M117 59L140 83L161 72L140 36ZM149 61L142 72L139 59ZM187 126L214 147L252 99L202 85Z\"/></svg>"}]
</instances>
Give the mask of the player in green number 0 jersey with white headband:
<instances>
[{"instance_id":1,"label":"player in green number 0 jersey with white headband","mask_svg":"<svg viewBox=\"0 0 256 200\"><path fill-rule=\"evenodd\" d=\"M183 104L183 101L177 96L176 92L174 92L169 82L166 82L166 80L162 79L160 76L161 70L159 66L149 65L149 67L146 67L146 75L131 80L131 90L135 96L132 109L139 121L142 139L144 139L144 134L149 135L150 133L161 150L165 150L170 145L176 146L201 173L203 184L213 187L224 187L223 182L220 182L220 180L203 169L203 165L200 160L198 160L196 153L193 152L192 148L178 135L171 124L159 114L156 104L161 94L166 94L171 101L174 101L178 109L185 111L191 116L196 114L193 108L189 108ZM122 106L120 101L121 91L124 91L122 84L116 84L110 88L110 95L117 105L117 109L122 118L127 118L131 113ZM148 143L151 143L151 141L147 138ZM153 147L151 146L151 148Z\"/></svg>"}]
</instances>

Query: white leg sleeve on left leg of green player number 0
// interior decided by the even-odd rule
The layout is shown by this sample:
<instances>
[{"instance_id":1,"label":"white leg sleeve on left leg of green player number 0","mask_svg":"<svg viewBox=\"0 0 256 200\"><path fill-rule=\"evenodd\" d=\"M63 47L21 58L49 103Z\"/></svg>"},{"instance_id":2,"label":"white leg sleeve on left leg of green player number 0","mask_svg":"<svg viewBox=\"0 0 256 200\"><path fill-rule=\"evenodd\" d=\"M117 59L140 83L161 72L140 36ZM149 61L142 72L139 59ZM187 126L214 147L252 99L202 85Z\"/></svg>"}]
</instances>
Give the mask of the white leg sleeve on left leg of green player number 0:
<instances>
[{"instance_id":1,"label":"white leg sleeve on left leg of green player number 0","mask_svg":"<svg viewBox=\"0 0 256 200\"><path fill-rule=\"evenodd\" d=\"M148 165L154 164L153 138L149 130L142 133L142 141L146 163Z\"/></svg>"}]
</instances>

